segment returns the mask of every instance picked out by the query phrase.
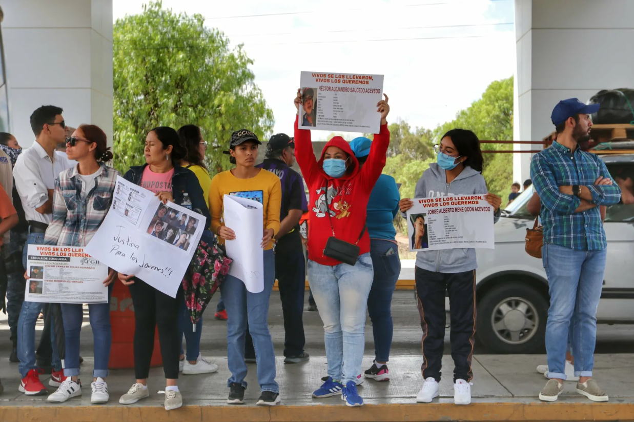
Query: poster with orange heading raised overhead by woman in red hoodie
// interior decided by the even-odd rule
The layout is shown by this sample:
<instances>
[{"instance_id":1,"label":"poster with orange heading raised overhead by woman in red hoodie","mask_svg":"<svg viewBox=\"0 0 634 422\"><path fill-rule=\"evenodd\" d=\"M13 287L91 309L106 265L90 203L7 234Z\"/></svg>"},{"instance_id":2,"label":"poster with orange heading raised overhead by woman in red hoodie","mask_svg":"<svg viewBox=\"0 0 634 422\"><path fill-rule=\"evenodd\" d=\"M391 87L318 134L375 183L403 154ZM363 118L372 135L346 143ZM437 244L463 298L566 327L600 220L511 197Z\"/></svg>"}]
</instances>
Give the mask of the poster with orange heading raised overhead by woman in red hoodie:
<instances>
[{"instance_id":1,"label":"poster with orange heading raised overhead by woman in red hoodie","mask_svg":"<svg viewBox=\"0 0 634 422\"><path fill-rule=\"evenodd\" d=\"M299 129L378 133L383 75L302 72Z\"/></svg>"}]
</instances>

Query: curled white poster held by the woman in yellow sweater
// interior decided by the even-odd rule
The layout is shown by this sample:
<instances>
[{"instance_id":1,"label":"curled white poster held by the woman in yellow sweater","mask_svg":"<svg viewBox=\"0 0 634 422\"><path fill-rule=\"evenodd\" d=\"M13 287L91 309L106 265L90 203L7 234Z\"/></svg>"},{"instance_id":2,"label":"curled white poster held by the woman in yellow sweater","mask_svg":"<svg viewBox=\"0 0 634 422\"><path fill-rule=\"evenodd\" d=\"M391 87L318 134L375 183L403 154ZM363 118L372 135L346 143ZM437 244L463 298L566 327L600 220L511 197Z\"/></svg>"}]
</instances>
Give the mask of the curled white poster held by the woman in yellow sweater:
<instances>
[{"instance_id":1,"label":"curled white poster held by the woman in yellow sweater","mask_svg":"<svg viewBox=\"0 0 634 422\"><path fill-rule=\"evenodd\" d=\"M223 206L224 225L236 235L233 241L224 242L227 256L233 260L229 274L242 280L247 291L260 293L264 290L264 206L238 195L224 195Z\"/></svg>"}]
</instances>

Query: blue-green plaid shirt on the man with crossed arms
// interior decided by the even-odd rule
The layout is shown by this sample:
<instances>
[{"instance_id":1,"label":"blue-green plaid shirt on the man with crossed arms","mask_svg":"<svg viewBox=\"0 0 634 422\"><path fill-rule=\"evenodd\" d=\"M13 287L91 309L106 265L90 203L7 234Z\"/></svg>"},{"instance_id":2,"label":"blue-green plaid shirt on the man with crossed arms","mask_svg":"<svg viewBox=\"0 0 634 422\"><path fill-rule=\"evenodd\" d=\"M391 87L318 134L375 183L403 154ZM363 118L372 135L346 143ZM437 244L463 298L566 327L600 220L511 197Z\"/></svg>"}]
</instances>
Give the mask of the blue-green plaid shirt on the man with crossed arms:
<instances>
[{"instance_id":1,"label":"blue-green plaid shirt on the man with crossed arms","mask_svg":"<svg viewBox=\"0 0 634 422\"><path fill-rule=\"evenodd\" d=\"M616 185L595 185L599 176L612 179L605 163L581 148L571 151L560 143L538 152L531 161L531 179L541 199L540 217L544 227L544 243L569 247L575 251L600 251L607 244L599 211L621 199ZM595 208L575 212L581 199L562 194L560 186L586 186Z\"/></svg>"}]
</instances>

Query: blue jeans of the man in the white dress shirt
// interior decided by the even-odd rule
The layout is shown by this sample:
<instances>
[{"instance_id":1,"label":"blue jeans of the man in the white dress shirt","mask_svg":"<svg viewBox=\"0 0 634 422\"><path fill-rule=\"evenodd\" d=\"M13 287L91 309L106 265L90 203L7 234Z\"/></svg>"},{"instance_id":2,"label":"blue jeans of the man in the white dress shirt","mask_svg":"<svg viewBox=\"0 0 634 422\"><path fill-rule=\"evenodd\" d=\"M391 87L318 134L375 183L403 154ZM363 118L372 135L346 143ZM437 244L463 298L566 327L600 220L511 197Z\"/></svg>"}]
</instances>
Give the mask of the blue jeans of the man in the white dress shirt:
<instances>
[{"instance_id":1,"label":"blue jeans of the man in the white dress shirt","mask_svg":"<svg viewBox=\"0 0 634 422\"><path fill-rule=\"evenodd\" d=\"M22 250L22 265L27 267L28 245L41 245L44 243L43 233L30 233L27 235L27 242ZM22 377L27 376L31 369L36 368L36 322L39 313L42 311L43 303L23 302L18 318L18 359L20 366L18 371ZM55 371L61 369L60 353L55 341L55 330L51 329L51 346L53 347L53 357L51 366Z\"/></svg>"}]
</instances>

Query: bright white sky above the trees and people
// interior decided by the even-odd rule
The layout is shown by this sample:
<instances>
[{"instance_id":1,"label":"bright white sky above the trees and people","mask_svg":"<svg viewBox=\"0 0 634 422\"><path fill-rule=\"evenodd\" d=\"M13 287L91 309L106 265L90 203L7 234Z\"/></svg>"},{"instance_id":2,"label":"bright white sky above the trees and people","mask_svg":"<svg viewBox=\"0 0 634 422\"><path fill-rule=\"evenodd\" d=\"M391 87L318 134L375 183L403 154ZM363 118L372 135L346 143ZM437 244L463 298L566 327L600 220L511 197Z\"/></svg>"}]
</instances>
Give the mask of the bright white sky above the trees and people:
<instances>
[{"instance_id":1,"label":"bright white sky above the trees and people","mask_svg":"<svg viewBox=\"0 0 634 422\"><path fill-rule=\"evenodd\" d=\"M116 21L141 13L148 0L112 3ZM292 131L302 70L382 74L388 121L429 129L515 72L514 0L163 0L163 7L199 13L232 46L244 45L274 133Z\"/></svg>"}]
</instances>

